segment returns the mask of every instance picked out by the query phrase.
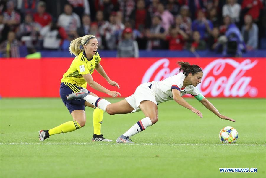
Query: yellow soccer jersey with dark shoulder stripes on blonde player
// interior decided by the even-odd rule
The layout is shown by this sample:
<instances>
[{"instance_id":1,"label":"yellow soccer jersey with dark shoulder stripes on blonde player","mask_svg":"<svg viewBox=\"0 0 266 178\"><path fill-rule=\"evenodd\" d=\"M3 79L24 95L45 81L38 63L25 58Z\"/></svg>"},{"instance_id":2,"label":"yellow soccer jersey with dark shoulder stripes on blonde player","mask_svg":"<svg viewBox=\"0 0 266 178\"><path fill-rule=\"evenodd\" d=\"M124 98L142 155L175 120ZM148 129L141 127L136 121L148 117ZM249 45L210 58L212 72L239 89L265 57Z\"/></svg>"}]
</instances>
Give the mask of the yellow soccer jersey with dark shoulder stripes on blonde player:
<instances>
[{"instance_id":1,"label":"yellow soccer jersey with dark shoulder stripes on blonde player","mask_svg":"<svg viewBox=\"0 0 266 178\"><path fill-rule=\"evenodd\" d=\"M86 88L87 82L81 74L92 74L96 64L99 64L100 61L101 58L98 52L96 52L96 54L91 59L87 59L85 52L81 52L72 61L69 69L66 73L64 73L61 82L68 82Z\"/></svg>"}]
</instances>

